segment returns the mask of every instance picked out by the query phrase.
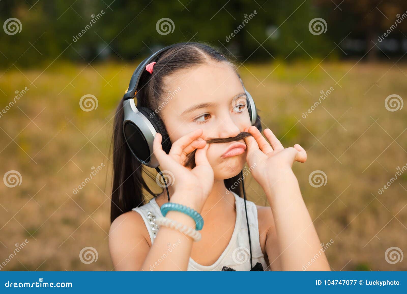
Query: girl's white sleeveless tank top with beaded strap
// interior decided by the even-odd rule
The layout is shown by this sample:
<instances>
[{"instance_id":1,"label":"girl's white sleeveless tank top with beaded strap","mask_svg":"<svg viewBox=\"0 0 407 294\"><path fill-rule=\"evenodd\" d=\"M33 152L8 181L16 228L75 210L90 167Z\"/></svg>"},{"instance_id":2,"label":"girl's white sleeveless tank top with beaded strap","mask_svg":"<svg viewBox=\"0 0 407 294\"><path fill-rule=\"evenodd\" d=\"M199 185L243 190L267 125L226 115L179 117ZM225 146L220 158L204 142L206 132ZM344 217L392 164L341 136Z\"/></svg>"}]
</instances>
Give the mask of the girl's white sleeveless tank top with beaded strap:
<instances>
[{"instance_id":1,"label":"girl's white sleeveless tank top with beaded strap","mask_svg":"<svg viewBox=\"0 0 407 294\"><path fill-rule=\"evenodd\" d=\"M234 194L236 204L236 222L228 246L217 261L210 266L198 264L190 257L188 271L221 271L223 266L230 267L236 271L250 270L249 236L247 233L245 203L243 198L234 192L232 193ZM267 264L260 248L257 208L252 201L248 200L246 200L246 206L250 226L250 240L252 241L252 263L253 266L255 266L257 262L260 262L263 269L266 270ZM160 229L155 224L155 216L162 216L160 207L155 202L155 198L141 207L133 208L133 210L142 216L150 235L151 244L153 244L157 231Z\"/></svg>"}]
</instances>

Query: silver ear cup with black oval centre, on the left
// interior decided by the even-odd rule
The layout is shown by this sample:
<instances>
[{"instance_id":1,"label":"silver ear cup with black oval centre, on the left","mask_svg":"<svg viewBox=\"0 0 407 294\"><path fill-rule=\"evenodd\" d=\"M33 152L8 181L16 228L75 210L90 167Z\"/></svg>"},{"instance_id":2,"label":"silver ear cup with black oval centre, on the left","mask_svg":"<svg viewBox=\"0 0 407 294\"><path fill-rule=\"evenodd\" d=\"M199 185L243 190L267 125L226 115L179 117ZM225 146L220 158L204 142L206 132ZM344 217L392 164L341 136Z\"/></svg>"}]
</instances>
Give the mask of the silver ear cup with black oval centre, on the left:
<instances>
[{"instance_id":1,"label":"silver ear cup with black oval centre, on the left","mask_svg":"<svg viewBox=\"0 0 407 294\"><path fill-rule=\"evenodd\" d=\"M123 110L123 132L127 146L141 163L150 168L158 167L158 160L153 154L153 142L157 133L154 126L137 110L134 99L125 100Z\"/></svg>"}]
</instances>

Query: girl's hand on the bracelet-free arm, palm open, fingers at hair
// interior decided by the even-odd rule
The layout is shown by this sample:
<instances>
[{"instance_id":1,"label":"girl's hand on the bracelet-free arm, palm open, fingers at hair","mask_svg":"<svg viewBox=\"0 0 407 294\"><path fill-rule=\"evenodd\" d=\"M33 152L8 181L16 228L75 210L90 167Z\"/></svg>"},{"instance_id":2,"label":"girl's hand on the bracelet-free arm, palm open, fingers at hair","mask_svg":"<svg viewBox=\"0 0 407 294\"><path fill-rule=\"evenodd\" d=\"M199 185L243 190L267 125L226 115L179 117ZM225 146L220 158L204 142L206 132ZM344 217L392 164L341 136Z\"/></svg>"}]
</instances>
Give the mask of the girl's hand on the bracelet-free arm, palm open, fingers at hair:
<instances>
[{"instance_id":1,"label":"girl's hand on the bracelet-free arm, palm open, fingers at hair","mask_svg":"<svg viewBox=\"0 0 407 294\"><path fill-rule=\"evenodd\" d=\"M292 173L294 161L305 162L306 152L300 145L284 148L269 128L264 130L267 140L255 126L245 129L252 134L245 138L247 145L247 164L254 167L254 179L267 191L276 181Z\"/></svg>"}]
</instances>

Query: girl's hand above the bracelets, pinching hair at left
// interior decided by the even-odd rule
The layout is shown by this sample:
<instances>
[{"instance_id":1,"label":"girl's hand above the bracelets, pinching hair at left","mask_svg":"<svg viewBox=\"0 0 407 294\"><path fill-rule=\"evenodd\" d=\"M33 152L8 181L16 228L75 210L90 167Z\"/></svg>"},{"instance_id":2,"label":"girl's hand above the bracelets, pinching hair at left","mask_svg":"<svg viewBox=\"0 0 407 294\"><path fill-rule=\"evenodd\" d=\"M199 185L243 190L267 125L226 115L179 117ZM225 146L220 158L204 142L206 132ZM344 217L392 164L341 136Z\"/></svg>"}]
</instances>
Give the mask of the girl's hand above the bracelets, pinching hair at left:
<instances>
[{"instance_id":1,"label":"girl's hand above the bracelets, pinching hair at left","mask_svg":"<svg viewBox=\"0 0 407 294\"><path fill-rule=\"evenodd\" d=\"M174 181L171 183L174 192L187 198L195 198L197 201L196 208L203 206L214 182L213 170L206 157L209 144L204 139L199 138L202 133L202 129L197 129L179 138L172 144L168 154L162 150L160 133L155 135L153 142L153 152L162 171L164 173L168 171L174 175ZM195 149L197 149L195 153L196 166L191 170L186 168L184 163L187 155Z\"/></svg>"}]
</instances>

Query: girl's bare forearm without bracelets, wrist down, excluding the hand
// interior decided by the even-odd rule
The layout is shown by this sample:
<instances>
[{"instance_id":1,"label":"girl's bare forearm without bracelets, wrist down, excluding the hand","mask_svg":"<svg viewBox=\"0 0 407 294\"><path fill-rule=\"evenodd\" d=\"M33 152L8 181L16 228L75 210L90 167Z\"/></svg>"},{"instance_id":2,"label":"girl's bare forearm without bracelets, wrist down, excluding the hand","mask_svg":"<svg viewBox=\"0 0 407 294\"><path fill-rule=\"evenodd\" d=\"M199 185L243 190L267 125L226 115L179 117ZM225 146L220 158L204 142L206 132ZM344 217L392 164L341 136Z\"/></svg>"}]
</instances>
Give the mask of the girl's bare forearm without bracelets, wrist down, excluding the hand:
<instances>
[{"instance_id":1,"label":"girl's bare forearm without bracelets, wrist down, excluding the hand","mask_svg":"<svg viewBox=\"0 0 407 294\"><path fill-rule=\"evenodd\" d=\"M330 270L325 253L320 249L321 242L302 199L297 178L292 170L287 170L272 187L265 187L270 206L274 209L274 225L278 244L278 263L280 270ZM271 232L267 233L266 252L272 250L268 242ZM271 239L271 238L270 238ZM274 253L276 255L276 253ZM318 255L315 258L315 255ZM307 264L311 262L311 266ZM272 261L270 261L272 262Z\"/></svg>"}]
</instances>

